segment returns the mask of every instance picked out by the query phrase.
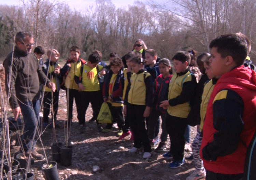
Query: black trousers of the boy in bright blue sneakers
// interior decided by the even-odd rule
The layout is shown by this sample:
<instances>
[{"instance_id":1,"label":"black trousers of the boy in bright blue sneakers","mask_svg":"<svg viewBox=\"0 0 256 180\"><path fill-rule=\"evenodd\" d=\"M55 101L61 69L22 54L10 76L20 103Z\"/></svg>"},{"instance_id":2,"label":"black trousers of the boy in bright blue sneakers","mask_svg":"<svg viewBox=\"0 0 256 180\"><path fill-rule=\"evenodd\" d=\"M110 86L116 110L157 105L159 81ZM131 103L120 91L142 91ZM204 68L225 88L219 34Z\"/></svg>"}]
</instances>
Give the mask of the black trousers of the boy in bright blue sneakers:
<instances>
[{"instance_id":1,"label":"black trousers of the boy in bright blue sneakers","mask_svg":"<svg viewBox=\"0 0 256 180\"><path fill-rule=\"evenodd\" d=\"M166 130L170 136L170 152L176 161L182 160L184 156L186 118L179 118L166 114Z\"/></svg>"}]
</instances>

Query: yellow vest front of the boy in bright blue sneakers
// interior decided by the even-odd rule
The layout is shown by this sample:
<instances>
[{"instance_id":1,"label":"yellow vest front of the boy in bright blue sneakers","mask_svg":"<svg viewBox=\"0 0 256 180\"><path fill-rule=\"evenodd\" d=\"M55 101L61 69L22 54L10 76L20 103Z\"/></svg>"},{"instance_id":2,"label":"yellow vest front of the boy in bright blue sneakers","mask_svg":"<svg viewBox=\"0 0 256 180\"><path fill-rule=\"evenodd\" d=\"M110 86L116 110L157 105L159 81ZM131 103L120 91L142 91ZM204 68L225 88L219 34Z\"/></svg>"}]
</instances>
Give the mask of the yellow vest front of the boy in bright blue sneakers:
<instances>
[{"instance_id":1,"label":"yellow vest front of the boy in bright blue sneakers","mask_svg":"<svg viewBox=\"0 0 256 180\"><path fill-rule=\"evenodd\" d=\"M188 74L190 74L189 71L182 76L178 76L176 73L172 76L169 84L168 100L171 100L181 94L182 81L183 83L185 83L185 82L191 81L192 79L191 74L190 75ZM189 102L178 104L176 106L168 106L168 109L167 109L167 112L170 115L176 116L179 118L187 118L189 111L190 111Z\"/></svg>"}]
</instances>

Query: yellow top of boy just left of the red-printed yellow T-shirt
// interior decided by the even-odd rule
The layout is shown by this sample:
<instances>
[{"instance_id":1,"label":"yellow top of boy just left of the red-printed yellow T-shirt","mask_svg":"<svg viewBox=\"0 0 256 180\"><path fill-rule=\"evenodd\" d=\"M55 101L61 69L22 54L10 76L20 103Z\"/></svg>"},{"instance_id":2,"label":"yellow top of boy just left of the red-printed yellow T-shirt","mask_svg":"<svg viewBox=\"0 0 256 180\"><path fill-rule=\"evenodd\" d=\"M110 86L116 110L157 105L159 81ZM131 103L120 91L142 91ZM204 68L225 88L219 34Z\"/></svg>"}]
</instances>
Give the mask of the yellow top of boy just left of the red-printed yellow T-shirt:
<instances>
[{"instance_id":1,"label":"yellow top of boy just left of the red-printed yellow T-shirt","mask_svg":"<svg viewBox=\"0 0 256 180\"><path fill-rule=\"evenodd\" d=\"M66 76L66 80L65 80L66 88L76 89L76 90L79 89L78 85L74 81L74 76L75 76L75 72L77 70L80 70L81 64L82 64L81 61L76 61L76 62L70 63L71 67L70 67L70 70L69 70L68 75Z\"/></svg>"}]
</instances>

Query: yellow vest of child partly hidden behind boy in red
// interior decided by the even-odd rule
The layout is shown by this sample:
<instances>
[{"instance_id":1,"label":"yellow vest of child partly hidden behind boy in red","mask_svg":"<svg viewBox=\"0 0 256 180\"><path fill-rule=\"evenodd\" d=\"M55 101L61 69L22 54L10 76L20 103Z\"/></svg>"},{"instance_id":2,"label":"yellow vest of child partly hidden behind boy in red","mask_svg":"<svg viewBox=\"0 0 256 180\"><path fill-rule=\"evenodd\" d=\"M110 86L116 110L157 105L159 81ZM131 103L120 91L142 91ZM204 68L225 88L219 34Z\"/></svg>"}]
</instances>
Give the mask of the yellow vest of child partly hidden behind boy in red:
<instances>
[{"instance_id":1,"label":"yellow vest of child partly hidden behind boy in red","mask_svg":"<svg viewBox=\"0 0 256 180\"><path fill-rule=\"evenodd\" d=\"M207 106L208 106L214 86L215 85L212 84L212 80L210 80L203 88L202 102L200 105L200 118L201 118L200 131L202 131L202 129L203 129L203 123L204 123Z\"/></svg>"}]
</instances>

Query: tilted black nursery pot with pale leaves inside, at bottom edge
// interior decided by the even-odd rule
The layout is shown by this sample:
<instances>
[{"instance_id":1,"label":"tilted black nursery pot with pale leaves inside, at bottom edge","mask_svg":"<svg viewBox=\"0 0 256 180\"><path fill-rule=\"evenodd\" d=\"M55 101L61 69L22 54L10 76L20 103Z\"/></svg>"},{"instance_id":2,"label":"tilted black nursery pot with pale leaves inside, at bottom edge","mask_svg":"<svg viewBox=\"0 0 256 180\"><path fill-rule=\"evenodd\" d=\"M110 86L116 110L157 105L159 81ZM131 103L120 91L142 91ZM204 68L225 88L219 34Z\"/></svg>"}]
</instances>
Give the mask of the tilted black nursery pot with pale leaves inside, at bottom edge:
<instances>
[{"instance_id":1,"label":"tilted black nursery pot with pale leaves inside, at bottom edge","mask_svg":"<svg viewBox=\"0 0 256 180\"><path fill-rule=\"evenodd\" d=\"M48 164L44 163L42 169L46 180L59 180L59 174L57 170L57 162L50 161Z\"/></svg>"}]
</instances>

